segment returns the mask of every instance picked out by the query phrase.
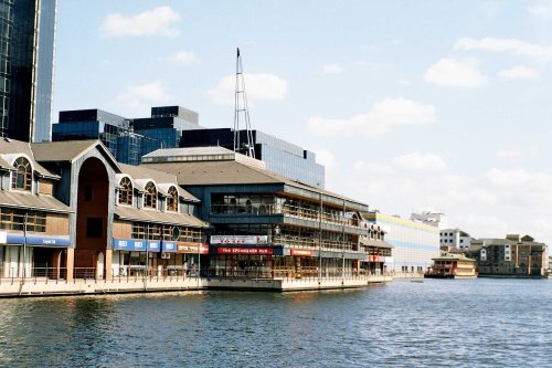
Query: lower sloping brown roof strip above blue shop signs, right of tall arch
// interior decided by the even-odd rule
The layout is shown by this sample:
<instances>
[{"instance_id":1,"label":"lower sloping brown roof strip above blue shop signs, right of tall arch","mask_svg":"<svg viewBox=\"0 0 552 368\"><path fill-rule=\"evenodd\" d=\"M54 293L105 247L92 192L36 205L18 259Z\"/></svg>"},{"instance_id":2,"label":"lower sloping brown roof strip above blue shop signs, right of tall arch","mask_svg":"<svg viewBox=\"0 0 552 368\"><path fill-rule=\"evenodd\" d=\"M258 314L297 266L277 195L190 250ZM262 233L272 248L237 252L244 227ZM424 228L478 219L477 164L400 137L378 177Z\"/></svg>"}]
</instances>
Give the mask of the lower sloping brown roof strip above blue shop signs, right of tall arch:
<instances>
[{"instance_id":1,"label":"lower sloping brown roof strip above blue shop signs, right of tall arch","mask_svg":"<svg viewBox=\"0 0 552 368\"><path fill-rule=\"evenodd\" d=\"M115 215L121 220L146 221L172 225L188 225L208 228L208 223L194 215L177 212L160 212L153 210L139 210L131 207L116 206Z\"/></svg>"}]
</instances>

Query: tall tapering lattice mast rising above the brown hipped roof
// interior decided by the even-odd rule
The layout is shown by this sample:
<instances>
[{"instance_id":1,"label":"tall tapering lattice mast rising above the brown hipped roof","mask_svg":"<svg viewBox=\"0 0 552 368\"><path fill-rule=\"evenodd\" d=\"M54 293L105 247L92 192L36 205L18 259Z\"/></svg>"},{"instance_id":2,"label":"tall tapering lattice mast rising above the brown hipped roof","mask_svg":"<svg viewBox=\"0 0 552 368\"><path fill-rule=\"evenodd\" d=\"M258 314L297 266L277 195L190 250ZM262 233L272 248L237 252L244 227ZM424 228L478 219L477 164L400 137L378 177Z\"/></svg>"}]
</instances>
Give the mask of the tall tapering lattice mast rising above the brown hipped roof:
<instances>
[{"instance_id":1,"label":"tall tapering lattice mast rising above the brown hipped roof","mask_svg":"<svg viewBox=\"0 0 552 368\"><path fill-rule=\"evenodd\" d=\"M253 132L251 130L250 123L250 108L247 107L247 95L245 94L245 80L243 75L242 56L240 55L240 48L237 48L236 93L234 111L234 151L242 150L242 145L240 143L240 115L243 115L243 119L245 120L245 130L247 134L247 141L243 144L243 148L245 148L245 155L255 158Z\"/></svg>"}]
</instances>

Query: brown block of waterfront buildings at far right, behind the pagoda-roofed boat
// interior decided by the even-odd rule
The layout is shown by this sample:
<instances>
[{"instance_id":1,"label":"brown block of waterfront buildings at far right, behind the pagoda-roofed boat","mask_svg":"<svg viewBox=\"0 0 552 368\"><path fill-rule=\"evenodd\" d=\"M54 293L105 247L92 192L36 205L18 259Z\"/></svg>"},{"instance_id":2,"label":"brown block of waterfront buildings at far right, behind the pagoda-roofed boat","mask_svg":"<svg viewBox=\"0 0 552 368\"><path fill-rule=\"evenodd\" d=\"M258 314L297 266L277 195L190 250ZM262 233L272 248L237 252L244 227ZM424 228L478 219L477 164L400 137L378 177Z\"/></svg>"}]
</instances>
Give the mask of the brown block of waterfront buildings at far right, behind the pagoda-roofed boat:
<instances>
[{"instance_id":1,"label":"brown block of waterfront buildings at far right, behind the pagoda-roofed boat","mask_svg":"<svg viewBox=\"0 0 552 368\"><path fill-rule=\"evenodd\" d=\"M473 240L469 254L477 261L479 275L540 277L546 274L546 244L529 235Z\"/></svg>"}]
</instances>

